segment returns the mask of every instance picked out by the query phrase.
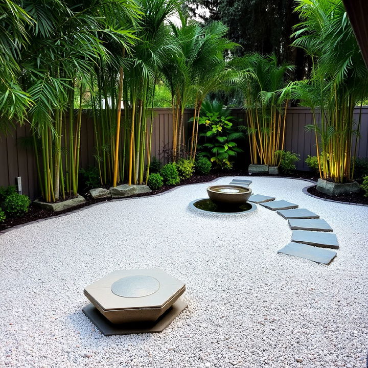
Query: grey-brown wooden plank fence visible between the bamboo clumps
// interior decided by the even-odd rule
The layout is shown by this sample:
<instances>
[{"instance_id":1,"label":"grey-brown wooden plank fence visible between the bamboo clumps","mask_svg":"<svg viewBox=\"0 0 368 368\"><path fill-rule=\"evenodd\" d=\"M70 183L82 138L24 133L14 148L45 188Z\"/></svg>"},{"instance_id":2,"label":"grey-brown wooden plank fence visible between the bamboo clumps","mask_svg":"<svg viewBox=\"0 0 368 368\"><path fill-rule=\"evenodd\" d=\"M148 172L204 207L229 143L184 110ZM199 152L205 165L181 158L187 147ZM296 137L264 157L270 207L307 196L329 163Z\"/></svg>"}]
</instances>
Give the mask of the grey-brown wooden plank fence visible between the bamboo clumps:
<instances>
[{"instance_id":1,"label":"grey-brown wooden plank fence visible between the bamboo clumps","mask_svg":"<svg viewBox=\"0 0 368 368\"><path fill-rule=\"evenodd\" d=\"M356 109L356 120L359 109ZM244 123L245 114L241 108L232 110L232 115L241 119ZM187 136L189 131L189 118L193 116L193 109L185 111L185 123ZM154 127L152 133L152 156L159 156L164 147L171 147L172 143L172 115L171 109L155 109ZM312 114L309 109L303 107L291 107L286 118L285 150L290 150L301 155L297 163L298 170L308 170L304 160L307 155L316 155L315 138L313 132L305 130L305 126L312 124ZM36 165L33 149L27 144L30 138L27 125L17 126L7 136L0 136L0 186L15 185L15 179L21 176L22 191L31 199L35 199L38 193ZM368 107L362 109L360 137L358 138L357 155L368 157ZM247 143L244 147L248 152ZM83 115L81 131L80 167L94 166L95 135L93 122L88 113ZM248 164L246 157L244 167Z\"/></svg>"}]
</instances>

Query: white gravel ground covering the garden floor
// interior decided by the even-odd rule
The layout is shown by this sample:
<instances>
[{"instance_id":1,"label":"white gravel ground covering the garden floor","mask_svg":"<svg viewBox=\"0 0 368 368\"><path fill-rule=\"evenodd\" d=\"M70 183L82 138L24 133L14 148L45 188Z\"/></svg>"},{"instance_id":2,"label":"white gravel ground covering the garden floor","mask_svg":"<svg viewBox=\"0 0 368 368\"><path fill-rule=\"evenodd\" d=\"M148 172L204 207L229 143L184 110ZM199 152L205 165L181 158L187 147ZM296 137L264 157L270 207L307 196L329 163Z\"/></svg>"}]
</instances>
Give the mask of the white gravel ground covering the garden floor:
<instances>
[{"instance_id":1,"label":"white gravel ground covering the garden floor","mask_svg":"<svg viewBox=\"0 0 368 368\"><path fill-rule=\"evenodd\" d=\"M331 224L330 266L278 255L291 231L260 205L235 218L189 212L206 184L14 229L0 237L0 366L365 367L368 207L309 197L302 180L251 179ZM84 286L141 267L185 281L189 308L159 334L101 335L81 311Z\"/></svg>"}]
</instances>

